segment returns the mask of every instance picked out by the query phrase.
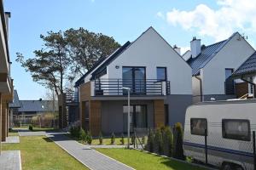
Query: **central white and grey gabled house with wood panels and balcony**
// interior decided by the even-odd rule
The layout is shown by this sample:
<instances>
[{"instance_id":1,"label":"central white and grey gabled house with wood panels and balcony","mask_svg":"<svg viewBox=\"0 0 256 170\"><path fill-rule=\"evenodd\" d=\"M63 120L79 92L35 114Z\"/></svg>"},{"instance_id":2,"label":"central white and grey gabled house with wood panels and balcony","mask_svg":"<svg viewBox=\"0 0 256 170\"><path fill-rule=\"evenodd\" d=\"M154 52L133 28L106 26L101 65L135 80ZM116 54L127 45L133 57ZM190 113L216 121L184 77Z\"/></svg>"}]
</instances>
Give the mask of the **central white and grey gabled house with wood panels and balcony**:
<instances>
[{"instance_id":1,"label":"central white and grey gabled house with wood panels and balcony","mask_svg":"<svg viewBox=\"0 0 256 170\"><path fill-rule=\"evenodd\" d=\"M126 42L76 82L80 123L93 135L127 132L127 91L131 88L133 127L160 127L184 121L191 105L191 68L154 30Z\"/></svg>"}]
</instances>

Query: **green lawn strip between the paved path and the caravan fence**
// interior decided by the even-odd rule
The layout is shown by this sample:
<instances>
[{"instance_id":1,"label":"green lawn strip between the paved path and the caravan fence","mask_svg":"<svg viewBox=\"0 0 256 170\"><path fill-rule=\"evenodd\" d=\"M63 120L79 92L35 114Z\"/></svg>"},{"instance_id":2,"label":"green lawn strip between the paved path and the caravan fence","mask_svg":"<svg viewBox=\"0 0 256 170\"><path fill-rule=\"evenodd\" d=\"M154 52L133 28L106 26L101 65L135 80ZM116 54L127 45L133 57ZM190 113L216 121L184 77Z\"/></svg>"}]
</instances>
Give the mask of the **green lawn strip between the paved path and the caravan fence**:
<instances>
[{"instance_id":1,"label":"green lawn strip between the paved path and the caravan fence","mask_svg":"<svg viewBox=\"0 0 256 170\"><path fill-rule=\"evenodd\" d=\"M204 168L191 166L188 163L155 156L139 150L128 149L96 149L102 154L112 157L137 170L202 170Z\"/></svg>"}]
</instances>

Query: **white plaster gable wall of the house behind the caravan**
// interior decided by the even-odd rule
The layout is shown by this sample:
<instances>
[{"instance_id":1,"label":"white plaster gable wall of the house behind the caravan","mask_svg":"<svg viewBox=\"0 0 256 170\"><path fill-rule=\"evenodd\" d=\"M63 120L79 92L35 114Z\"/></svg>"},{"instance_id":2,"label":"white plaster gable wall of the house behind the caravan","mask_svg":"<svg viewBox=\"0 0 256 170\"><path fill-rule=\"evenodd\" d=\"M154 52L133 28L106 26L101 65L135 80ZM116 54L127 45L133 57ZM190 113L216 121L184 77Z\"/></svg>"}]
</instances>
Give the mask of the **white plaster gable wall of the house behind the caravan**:
<instances>
[{"instance_id":1,"label":"white plaster gable wall of the house behind the caravan","mask_svg":"<svg viewBox=\"0 0 256 170\"><path fill-rule=\"evenodd\" d=\"M243 39L238 40L236 33L225 44L216 56L201 69L202 91L207 94L224 94L225 68L234 71L254 52L254 49Z\"/></svg>"}]
</instances>

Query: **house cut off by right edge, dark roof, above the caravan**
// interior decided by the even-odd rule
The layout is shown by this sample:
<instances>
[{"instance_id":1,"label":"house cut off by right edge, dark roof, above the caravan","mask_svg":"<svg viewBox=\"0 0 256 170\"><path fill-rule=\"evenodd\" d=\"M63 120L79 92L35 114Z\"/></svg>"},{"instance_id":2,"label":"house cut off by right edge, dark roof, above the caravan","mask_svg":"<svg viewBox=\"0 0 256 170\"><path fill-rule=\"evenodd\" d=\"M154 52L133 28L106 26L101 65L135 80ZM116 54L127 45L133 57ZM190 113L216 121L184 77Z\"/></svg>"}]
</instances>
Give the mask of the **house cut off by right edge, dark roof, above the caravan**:
<instances>
[{"instance_id":1,"label":"house cut off by right edge, dark roof, above the caravan","mask_svg":"<svg viewBox=\"0 0 256 170\"><path fill-rule=\"evenodd\" d=\"M236 94L238 97L256 98L256 52L253 53L240 67L232 74L232 78L241 80L236 84ZM252 94L252 96L249 96Z\"/></svg>"}]
</instances>

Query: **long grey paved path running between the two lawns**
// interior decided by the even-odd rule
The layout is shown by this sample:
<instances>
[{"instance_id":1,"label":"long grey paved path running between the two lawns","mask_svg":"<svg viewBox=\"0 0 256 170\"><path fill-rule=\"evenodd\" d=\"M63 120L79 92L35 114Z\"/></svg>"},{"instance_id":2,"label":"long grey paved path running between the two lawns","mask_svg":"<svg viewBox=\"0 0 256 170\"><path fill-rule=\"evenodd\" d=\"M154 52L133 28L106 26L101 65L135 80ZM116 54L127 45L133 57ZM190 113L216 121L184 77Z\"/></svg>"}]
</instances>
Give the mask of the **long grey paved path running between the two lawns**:
<instances>
[{"instance_id":1,"label":"long grey paved path running between the two lawns","mask_svg":"<svg viewBox=\"0 0 256 170\"><path fill-rule=\"evenodd\" d=\"M79 142L67 138L62 133L47 133L49 139L58 144L63 150L66 150L71 156L75 157L86 167L92 170L131 170L132 167L116 161L102 153L90 149L90 146L80 144Z\"/></svg>"}]
</instances>

